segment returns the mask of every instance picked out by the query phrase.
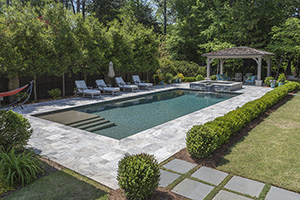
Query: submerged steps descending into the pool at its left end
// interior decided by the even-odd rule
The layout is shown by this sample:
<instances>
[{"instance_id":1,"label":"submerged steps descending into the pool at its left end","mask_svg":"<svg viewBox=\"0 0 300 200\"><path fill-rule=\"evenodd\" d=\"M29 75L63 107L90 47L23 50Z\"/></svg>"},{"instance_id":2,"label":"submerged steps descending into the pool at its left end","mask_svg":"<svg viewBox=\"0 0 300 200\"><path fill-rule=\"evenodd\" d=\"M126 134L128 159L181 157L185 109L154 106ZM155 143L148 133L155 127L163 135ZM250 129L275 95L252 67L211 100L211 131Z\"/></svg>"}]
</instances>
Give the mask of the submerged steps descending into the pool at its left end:
<instances>
[{"instance_id":1,"label":"submerged steps descending into the pool at its left end","mask_svg":"<svg viewBox=\"0 0 300 200\"><path fill-rule=\"evenodd\" d=\"M111 126L115 126L115 123L110 122L109 120L105 119L104 117L96 116L91 119L86 119L79 122L74 122L70 124L66 124L68 126L79 128L85 131L98 131L105 128L109 128Z\"/></svg>"}]
</instances>

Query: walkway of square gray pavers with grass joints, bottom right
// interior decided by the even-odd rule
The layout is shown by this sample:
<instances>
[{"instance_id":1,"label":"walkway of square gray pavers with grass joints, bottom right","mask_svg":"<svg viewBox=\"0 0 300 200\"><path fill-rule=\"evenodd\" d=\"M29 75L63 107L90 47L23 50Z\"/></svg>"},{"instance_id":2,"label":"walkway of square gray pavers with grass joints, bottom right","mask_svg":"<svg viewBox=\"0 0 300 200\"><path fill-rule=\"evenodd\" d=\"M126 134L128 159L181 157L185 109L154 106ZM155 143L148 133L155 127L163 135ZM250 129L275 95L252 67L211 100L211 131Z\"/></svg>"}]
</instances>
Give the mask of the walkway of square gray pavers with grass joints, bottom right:
<instances>
[{"instance_id":1,"label":"walkway of square gray pavers with grass joints, bottom right","mask_svg":"<svg viewBox=\"0 0 300 200\"><path fill-rule=\"evenodd\" d=\"M195 200L300 200L298 193L179 159L162 166L159 184Z\"/></svg>"}]
</instances>

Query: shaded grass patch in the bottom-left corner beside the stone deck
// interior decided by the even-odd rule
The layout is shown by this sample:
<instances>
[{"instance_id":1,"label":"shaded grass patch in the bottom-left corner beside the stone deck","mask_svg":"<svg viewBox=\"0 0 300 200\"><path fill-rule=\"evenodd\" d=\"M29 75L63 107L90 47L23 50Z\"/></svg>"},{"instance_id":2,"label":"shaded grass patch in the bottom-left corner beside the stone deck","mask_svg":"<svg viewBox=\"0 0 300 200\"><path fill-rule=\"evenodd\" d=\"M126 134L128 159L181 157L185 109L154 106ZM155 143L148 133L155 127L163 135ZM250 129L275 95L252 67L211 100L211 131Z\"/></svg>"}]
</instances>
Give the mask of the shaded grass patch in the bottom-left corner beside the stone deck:
<instances>
[{"instance_id":1,"label":"shaded grass patch in the bottom-left corner beside the stone deck","mask_svg":"<svg viewBox=\"0 0 300 200\"><path fill-rule=\"evenodd\" d=\"M109 190L70 170L45 176L8 196L7 200L107 200Z\"/></svg>"}]
</instances>

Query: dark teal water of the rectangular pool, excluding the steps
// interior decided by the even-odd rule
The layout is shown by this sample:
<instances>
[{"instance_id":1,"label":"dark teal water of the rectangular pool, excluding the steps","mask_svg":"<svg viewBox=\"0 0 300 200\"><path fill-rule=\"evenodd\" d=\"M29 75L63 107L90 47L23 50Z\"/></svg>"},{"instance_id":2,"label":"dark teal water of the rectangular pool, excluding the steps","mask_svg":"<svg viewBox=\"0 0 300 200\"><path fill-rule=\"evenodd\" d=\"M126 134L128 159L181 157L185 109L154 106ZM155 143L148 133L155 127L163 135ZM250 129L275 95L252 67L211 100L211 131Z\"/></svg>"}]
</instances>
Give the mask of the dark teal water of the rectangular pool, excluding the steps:
<instances>
[{"instance_id":1,"label":"dark teal water of the rectangular pool, excluding the steps","mask_svg":"<svg viewBox=\"0 0 300 200\"><path fill-rule=\"evenodd\" d=\"M115 126L92 131L93 133L123 139L236 95L172 90L76 110L99 115L115 123Z\"/></svg>"}]
</instances>

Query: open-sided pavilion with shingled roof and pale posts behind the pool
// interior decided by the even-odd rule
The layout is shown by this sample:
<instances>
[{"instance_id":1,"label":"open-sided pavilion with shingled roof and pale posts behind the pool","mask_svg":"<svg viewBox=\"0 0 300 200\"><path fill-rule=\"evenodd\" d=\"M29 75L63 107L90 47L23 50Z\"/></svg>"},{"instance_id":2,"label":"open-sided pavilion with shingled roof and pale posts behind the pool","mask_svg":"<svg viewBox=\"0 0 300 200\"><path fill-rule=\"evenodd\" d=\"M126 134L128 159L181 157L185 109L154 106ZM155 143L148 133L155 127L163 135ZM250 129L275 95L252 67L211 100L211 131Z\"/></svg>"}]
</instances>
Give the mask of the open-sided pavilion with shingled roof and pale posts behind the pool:
<instances>
[{"instance_id":1,"label":"open-sided pavilion with shingled roof and pale posts behind the pool","mask_svg":"<svg viewBox=\"0 0 300 200\"><path fill-rule=\"evenodd\" d=\"M253 49L250 47L231 47L228 49L223 49L220 51L214 51L211 53L202 54L202 56L207 57L207 79L210 77L210 63L214 59L220 60L220 73L223 74L223 65L227 59L237 59L237 58L251 58L256 61L257 67L257 79L261 80L261 64L262 59L266 60L268 64L267 76L271 75L271 56L274 56L274 53L267 51L262 51L258 49Z\"/></svg>"}]
</instances>

